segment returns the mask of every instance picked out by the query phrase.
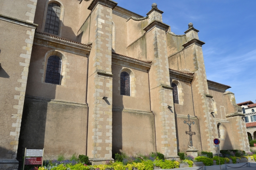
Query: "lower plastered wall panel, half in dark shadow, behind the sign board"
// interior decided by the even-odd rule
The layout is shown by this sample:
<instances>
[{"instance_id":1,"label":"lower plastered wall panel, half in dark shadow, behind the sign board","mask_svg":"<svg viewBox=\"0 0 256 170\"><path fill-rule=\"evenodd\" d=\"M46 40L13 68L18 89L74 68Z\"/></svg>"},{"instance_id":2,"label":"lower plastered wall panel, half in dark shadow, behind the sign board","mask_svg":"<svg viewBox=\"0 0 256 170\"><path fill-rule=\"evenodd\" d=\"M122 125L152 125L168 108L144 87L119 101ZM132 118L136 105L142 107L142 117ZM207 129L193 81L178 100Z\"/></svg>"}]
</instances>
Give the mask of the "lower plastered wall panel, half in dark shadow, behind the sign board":
<instances>
[{"instance_id":1,"label":"lower plastered wall panel, half in dark shadow, behind the sign board","mask_svg":"<svg viewBox=\"0 0 256 170\"><path fill-rule=\"evenodd\" d=\"M84 155L86 146L87 106L85 103L46 98L25 98L18 159L25 148L45 149L44 158Z\"/></svg>"}]
</instances>

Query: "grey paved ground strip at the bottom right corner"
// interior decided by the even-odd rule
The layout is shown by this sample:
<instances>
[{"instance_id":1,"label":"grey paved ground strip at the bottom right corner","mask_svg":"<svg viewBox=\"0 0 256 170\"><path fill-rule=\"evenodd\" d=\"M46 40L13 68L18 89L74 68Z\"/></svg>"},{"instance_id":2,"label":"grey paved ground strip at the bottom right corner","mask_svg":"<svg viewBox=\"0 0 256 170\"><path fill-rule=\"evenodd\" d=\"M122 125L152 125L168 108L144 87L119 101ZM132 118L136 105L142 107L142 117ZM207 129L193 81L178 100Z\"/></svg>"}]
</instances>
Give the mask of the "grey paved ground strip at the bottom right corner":
<instances>
[{"instance_id":1,"label":"grey paved ground strip at the bottom right corner","mask_svg":"<svg viewBox=\"0 0 256 170\"><path fill-rule=\"evenodd\" d=\"M247 165L244 165L246 163L237 163L237 164L227 164L230 167L234 167L234 168L230 168L227 167L227 169L234 169L234 170L256 170L256 162L250 162L251 167L247 167ZM244 165L243 167L241 167L242 165ZM236 167L241 167L241 168L236 168ZM192 167L192 168L179 168L178 170L198 170L201 167ZM220 165L213 165L213 166L206 166L206 169L201 168L200 170L219 170L220 169ZM225 169L225 165L221 165L221 169ZM174 170L174 169L172 169Z\"/></svg>"}]
</instances>

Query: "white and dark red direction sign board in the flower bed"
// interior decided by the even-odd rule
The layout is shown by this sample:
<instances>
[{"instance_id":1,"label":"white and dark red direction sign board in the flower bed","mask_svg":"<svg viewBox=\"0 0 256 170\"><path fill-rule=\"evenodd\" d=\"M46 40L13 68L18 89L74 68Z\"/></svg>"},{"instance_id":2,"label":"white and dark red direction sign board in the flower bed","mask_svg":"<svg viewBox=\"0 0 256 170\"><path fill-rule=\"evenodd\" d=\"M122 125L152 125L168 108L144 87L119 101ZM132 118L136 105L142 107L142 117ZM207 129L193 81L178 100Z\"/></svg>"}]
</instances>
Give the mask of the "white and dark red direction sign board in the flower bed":
<instances>
[{"instance_id":1,"label":"white and dark red direction sign board in the flower bed","mask_svg":"<svg viewBox=\"0 0 256 170\"><path fill-rule=\"evenodd\" d=\"M42 165L43 166L43 150L44 149L25 149L25 159L23 163L23 170L25 165Z\"/></svg>"}]
</instances>

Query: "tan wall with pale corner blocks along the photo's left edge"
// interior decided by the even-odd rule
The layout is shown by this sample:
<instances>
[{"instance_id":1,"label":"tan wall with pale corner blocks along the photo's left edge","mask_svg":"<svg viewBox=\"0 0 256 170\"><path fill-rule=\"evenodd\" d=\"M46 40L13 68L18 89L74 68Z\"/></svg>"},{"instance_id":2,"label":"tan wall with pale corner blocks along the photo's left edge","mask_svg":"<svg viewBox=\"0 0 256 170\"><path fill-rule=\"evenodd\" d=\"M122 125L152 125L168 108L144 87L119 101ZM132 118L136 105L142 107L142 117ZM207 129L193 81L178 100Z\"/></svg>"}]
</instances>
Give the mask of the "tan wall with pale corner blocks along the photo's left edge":
<instances>
[{"instance_id":1,"label":"tan wall with pale corner blocks along the photo's left edge","mask_svg":"<svg viewBox=\"0 0 256 170\"><path fill-rule=\"evenodd\" d=\"M33 24L36 2L0 2L0 169L18 168L22 110L37 27ZM8 163L2 164L3 159Z\"/></svg>"}]
</instances>

